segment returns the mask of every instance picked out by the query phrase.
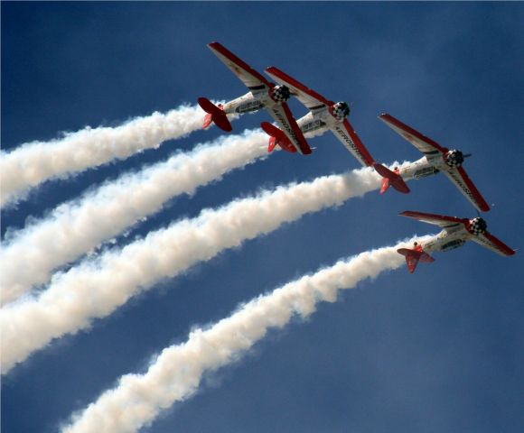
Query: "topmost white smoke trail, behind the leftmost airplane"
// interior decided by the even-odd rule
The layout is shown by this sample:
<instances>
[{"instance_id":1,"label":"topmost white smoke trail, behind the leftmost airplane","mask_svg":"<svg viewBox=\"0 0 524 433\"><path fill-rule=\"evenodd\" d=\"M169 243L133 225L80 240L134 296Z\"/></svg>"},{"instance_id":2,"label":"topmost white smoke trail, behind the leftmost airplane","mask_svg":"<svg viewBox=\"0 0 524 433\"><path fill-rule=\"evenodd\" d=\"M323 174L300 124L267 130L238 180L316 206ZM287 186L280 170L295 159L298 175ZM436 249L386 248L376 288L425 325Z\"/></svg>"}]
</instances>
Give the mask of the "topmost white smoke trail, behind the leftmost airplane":
<instances>
[{"instance_id":1,"label":"topmost white smoke trail, behind the leftmost airplane","mask_svg":"<svg viewBox=\"0 0 524 433\"><path fill-rule=\"evenodd\" d=\"M201 128L203 115L199 106L180 106L115 128L88 127L51 142L26 143L12 152L0 152L0 206L22 198L44 180L125 159L189 134Z\"/></svg>"}]
</instances>

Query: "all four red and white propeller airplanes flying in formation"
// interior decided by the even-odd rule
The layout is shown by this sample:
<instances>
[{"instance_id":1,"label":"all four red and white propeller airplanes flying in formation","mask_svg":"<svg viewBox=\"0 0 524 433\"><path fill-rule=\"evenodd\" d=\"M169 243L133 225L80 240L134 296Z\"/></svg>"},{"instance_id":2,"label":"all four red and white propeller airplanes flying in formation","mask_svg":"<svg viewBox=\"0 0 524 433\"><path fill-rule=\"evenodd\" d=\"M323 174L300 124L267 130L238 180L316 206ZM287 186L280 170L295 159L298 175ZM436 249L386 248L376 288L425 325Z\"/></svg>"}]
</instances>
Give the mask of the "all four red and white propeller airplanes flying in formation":
<instances>
[{"instance_id":1,"label":"all four red and white propeller airplanes flying in formation","mask_svg":"<svg viewBox=\"0 0 524 433\"><path fill-rule=\"evenodd\" d=\"M304 134L311 137L324 134L329 130L362 166L373 167L379 173L382 177L380 194L385 193L389 187L407 194L410 190L406 180L418 180L442 171L477 209L477 212L490 210L486 200L463 169L463 161L471 156L470 154L463 154L459 150L449 150L392 115L382 114L379 115L380 120L424 154L415 162L390 170L375 161L360 141L347 118L351 108L346 102L335 103L326 99L274 66L265 69L267 76L275 81L271 82L219 42L211 42L208 47L244 83L248 88L248 93L217 106L209 99L199 97L198 103L207 113L202 124L204 129L214 123L221 130L230 132L232 126L228 115L243 115L264 108L276 122L276 124L269 122L260 124L269 135L267 152L272 152L276 146L279 146L285 152L311 154L312 149ZM298 120L295 120L287 106L287 101L292 96L296 97L308 110L308 113ZM400 215L434 224L443 229L439 234L422 243L415 242L412 248L398 249L398 253L406 257L407 270L411 273L415 272L418 262L432 263L435 261L430 253L449 251L462 246L469 240L504 256L515 253L508 245L486 230L487 225L482 217L468 219L415 211L405 211Z\"/></svg>"}]
</instances>

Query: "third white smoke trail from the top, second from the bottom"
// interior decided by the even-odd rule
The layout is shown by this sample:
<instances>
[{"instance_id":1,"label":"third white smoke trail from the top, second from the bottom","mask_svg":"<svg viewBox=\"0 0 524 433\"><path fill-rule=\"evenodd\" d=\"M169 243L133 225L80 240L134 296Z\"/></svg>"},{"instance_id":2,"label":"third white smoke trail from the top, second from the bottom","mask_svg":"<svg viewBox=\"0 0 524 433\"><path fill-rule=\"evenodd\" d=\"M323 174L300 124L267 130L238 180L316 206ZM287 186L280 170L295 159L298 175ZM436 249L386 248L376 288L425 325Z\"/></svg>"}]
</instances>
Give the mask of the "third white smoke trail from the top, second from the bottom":
<instances>
[{"instance_id":1,"label":"third white smoke trail from the top, second from the bottom","mask_svg":"<svg viewBox=\"0 0 524 433\"><path fill-rule=\"evenodd\" d=\"M89 327L93 318L108 316L156 281L379 185L379 175L365 168L263 191L254 198L203 210L199 217L174 223L121 250L55 274L49 289L37 299L2 308L2 373L53 338L75 334Z\"/></svg>"}]
</instances>

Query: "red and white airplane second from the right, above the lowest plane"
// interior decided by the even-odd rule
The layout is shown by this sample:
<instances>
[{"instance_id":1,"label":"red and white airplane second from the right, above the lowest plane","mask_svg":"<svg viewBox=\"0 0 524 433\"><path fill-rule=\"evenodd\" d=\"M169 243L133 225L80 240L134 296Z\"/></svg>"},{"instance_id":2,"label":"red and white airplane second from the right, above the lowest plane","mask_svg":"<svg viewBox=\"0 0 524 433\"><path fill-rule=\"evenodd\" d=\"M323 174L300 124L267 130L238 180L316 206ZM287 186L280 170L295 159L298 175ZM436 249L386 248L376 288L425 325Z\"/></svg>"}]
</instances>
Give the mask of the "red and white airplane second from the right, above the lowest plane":
<instances>
[{"instance_id":1,"label":"red and white airplane second from the right, above the lowest plane","mask_svg":"<svg viewBox=\"0 0 524 433\"><path fill-rule=\"evenodd\" d=\"M450 151L426 137L426 135L420 134L407 126L407 124L403 124L392 115L383 114L379 115L379 118L425 155L418 161L405 167L397 167L394 170L389 170L383 165L375 163L373 167L384 178L380 194L384 194L389 186L395 189L406 189L405 180L425 178L442 171L474 207L483 212L490 210L490 206L482 198L481 193L473 185L472 180L462 167L464 159L471 154L463 154L463 152L457 150Z\"/></svg>"}]
</instances>

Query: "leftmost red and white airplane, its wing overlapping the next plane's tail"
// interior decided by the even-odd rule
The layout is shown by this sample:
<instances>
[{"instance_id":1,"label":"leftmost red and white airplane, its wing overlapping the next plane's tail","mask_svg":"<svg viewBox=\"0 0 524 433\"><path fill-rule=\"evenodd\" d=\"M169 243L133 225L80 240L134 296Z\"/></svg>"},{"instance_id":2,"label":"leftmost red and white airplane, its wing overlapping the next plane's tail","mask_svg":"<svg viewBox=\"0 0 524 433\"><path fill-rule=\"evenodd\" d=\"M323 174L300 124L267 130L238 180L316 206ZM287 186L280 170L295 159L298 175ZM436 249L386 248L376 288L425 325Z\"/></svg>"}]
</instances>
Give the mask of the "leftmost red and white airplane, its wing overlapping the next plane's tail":
<instances>
[{"instance_id":1,"label":"leftmost red and white airplane, its wing overlapping the next plane's tail","mask_svg":"<svg viewBox=\"0 0 524 433\"><path fill-rule=\"evenodd\" d=\"M303 155L310 154L311 148L285 103L290 97L289 88L270 83L267 78L252 69L219 42L211 42L208 47L246 85L249 91L246 95L237 97L224 105L219 104L219 106L215 106L205 97L199 97L198 103L207 113L202 127L205 129L214 122L220 129L229 132L232 127L227 115L233 113L242 115L266 108L269 115L282 128L278 129L268 124L267 130L276 133L285 150L292 153L299 152Z\"/></svg>"}]
</instances>

